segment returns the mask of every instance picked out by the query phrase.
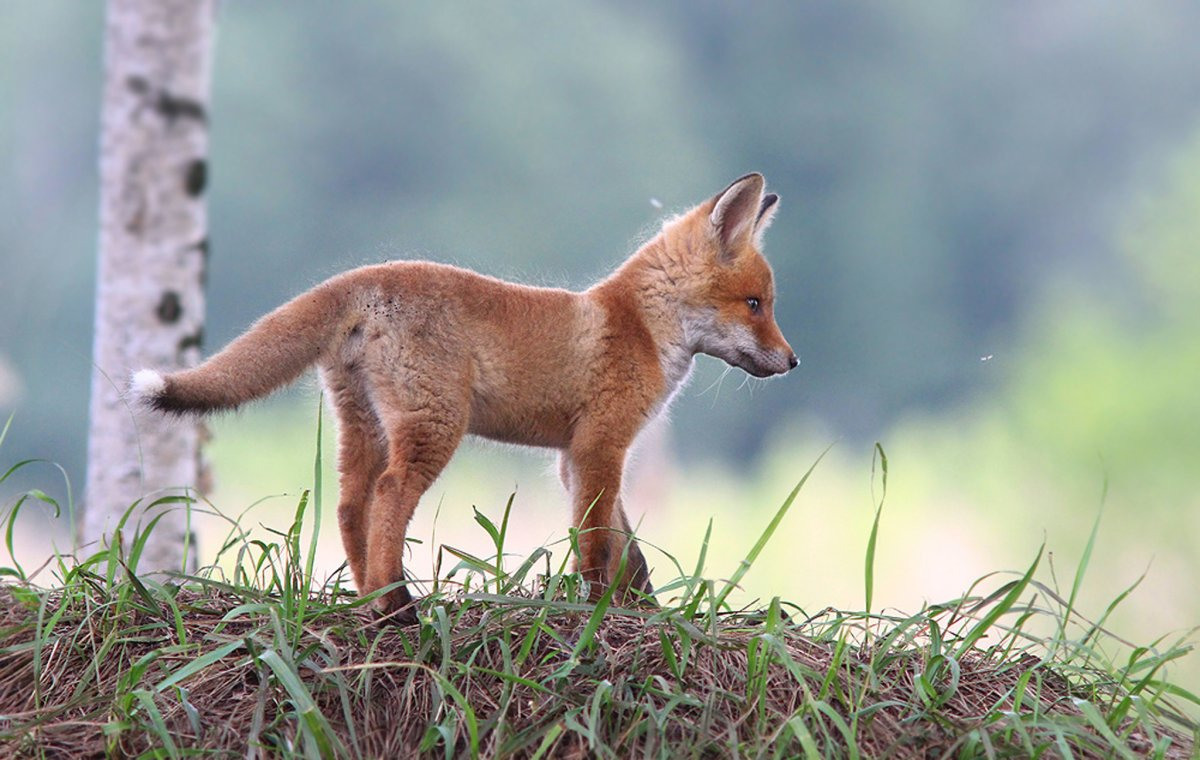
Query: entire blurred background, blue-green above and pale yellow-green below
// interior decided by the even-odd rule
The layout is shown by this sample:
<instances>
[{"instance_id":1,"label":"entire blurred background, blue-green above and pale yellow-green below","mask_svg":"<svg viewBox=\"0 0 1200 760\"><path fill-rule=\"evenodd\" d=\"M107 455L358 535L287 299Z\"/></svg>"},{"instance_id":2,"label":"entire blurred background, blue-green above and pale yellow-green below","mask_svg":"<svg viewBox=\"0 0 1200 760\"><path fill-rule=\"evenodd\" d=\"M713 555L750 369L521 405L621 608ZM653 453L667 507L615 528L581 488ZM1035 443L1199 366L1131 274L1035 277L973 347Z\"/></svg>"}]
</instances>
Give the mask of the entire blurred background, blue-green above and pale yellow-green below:
<instances>
[{"instance_id":1,"label":"entire blurred background, blue-green above and pale yellow-green below","mask_svg":"<svg viewBox=\"0 0 1200 760\"><path fill-rule=\"evenodd\" d=\"M102 24L101 4L0 6L5 463L53 460L76 485ZM767 255L803 364L748 383L698 361L637 461L646 537L688 564L712 517L727 574L836 442L745 596L860 608L881 441L877 598L912 609L1043 540L1069 587L1106 483L1084 610L1148 565L1114 624L1177 636L1200 624L1198 32L1200 6L1166 1L230 0L205 342L388 258L584 287L662 214L761 170L784 201ZM316 407L310 382L218 420L214 505L287 492L253 513L282 527ZM413 535L484 551L469 507L498 514L514 489L518 541L562 535L547 461L464 447ZM53 471L25 478L58 493ZM331 475L326 491L331 508ZM24 531L68 541L61 522ZM1200 686L1196 664L1177 672Z\"/></svg>"}]
</instances>

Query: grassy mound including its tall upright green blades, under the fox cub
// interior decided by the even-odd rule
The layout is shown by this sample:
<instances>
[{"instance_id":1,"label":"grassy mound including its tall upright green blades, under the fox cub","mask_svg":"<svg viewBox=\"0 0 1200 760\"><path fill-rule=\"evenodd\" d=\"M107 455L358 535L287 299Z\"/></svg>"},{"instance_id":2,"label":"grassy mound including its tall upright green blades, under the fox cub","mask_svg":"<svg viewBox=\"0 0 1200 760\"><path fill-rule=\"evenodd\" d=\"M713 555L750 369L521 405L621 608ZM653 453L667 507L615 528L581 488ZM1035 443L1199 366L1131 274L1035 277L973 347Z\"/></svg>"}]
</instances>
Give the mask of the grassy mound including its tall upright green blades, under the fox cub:
<instances>
[{"instance_id":1,"label":"grassy mound including its tall upright green blades, under the fox cub","mask_svg":"<svg viewBox=\"0 0 1200 760\"><path fill-rule=\"evenodd\" d=\"M223 562L194 575L139 575L154 517L122 521L104 550L58 557L49 588L0 568L0 755L1194 756L1200 699L1164 677L1192 645L1106 632L1132 590L1097 621L1074 608L1094 529L1066 597L1039 550L961 598L872 611L876 457L859 612L730 604L811 468L728 579L706 567L710 531L688 567L664 553L660 608L589 604L566 572L577 537L508 557L509 510L476 510L494 555L444 547L409 628L376 624L341 573L314 576L318 497L274 540L229 519ZM58 509L19 497L10 556L31 501Z\"/></svg>"}]
</instances>

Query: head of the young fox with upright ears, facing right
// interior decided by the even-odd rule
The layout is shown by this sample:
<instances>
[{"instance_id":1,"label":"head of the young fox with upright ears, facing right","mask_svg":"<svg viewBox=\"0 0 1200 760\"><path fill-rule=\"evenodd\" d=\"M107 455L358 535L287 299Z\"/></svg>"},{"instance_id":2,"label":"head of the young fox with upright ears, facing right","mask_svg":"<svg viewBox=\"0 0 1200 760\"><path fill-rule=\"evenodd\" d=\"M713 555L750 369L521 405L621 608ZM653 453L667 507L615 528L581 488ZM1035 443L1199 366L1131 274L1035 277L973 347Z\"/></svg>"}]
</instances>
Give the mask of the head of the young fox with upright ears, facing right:
<instances>
[{"instance_id":1,"label":"head of the young fox with upright ears, facing right","mask_svg":"<svg viewBox=\"0 0 1200 760\"><path fill-rule=\"evenodd\" d=\"M692 351L755 377L799 364L775 323L775 279L760 251L779 205L764 190L761 174L746 174L665 231L686 262L682 306Z\"/></svg>"}]
</instances>

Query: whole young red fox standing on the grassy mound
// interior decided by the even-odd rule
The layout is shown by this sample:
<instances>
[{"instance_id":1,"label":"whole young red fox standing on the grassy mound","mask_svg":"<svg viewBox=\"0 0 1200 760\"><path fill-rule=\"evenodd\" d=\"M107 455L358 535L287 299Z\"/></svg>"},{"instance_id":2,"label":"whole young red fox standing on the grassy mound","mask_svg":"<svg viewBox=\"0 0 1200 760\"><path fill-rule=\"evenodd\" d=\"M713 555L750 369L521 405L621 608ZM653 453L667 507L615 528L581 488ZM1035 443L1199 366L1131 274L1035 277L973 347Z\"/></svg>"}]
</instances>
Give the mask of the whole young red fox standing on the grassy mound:
<instances>
[{"instance_id":1,"label":"whole young red fox standing on the grassy mound","mask_svg":"<svg viewBox=\"0 0 1200 760\"><path fill-rule=\"evenodd\" d=\"M708 354L755 377L799 364L775 324L760 252L779 197L748 174L664 222L617 271L574 293L456 267L391 262L337 275L256 322L199 366L136 372L161 412L238 407L317 365L336 411L337 520L367 594L403 579L404 533L462 437L560 451L593 597L650 594L620 502L638 431ZM416 621L403 584L376 602Z\"/></svg>"}]
</instances>

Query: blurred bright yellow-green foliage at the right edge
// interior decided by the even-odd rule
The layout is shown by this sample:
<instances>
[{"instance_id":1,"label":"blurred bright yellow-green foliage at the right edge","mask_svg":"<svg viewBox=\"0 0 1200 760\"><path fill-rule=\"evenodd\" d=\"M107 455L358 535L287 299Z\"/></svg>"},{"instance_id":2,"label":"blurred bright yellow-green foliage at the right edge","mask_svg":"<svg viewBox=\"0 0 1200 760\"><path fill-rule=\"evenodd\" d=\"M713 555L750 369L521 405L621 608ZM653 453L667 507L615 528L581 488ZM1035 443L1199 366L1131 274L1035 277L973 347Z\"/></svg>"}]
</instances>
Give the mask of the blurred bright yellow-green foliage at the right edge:
<instances>
[{"instance_id":1,"label":"blurred bright yellow-green foliage at the right edge","mask_svg":"<svg viewBox=\"0 0 1200 760\"><path fill-rule=\"evenodd\" d=\"M1052 291L1004 397L1016 430L1056 465L1102 465L1152 508L1158 486L1190 493L1200 461L1200 133L1130 214L1123 241L1120 292Z\"/></svg>"}]
</instances>

